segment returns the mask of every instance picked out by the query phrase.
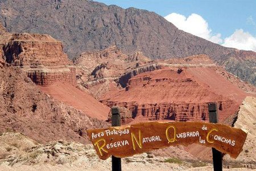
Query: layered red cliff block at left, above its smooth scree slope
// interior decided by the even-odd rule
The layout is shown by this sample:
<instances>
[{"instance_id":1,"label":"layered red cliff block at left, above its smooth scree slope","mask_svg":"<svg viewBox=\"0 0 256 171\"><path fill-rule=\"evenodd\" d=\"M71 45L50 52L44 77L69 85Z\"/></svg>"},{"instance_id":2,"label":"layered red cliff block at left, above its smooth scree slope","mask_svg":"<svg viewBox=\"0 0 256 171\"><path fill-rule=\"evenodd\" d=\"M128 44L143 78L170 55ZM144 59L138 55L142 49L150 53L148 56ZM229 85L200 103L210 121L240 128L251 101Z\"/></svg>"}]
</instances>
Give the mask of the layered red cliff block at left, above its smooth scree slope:
<instances>
[{"instance_id":1,"label":"layered red cliff block at left, above its smooth scree slope","mask_svg":"<svg viewBox=\"0 0 256 171\"><path fill-rule=\"evenodd\" d=\"M37 85L55 82L76 85L75 67L63 52L62 43L49 35L14 33L0 48L5 62L20 67Z\"/></svg>"}]
</instances>

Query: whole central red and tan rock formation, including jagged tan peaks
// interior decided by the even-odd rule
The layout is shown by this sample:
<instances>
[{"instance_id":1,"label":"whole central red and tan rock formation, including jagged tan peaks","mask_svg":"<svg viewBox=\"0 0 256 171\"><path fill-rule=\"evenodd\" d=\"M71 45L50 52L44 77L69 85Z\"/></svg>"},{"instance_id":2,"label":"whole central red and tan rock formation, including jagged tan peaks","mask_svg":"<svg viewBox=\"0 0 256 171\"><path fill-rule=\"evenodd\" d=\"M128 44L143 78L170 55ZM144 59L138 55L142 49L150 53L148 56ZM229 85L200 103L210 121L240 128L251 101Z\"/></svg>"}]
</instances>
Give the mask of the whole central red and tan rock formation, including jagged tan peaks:
<instances>
[{"instance_id":1,"label":"whole central red and tan rock formation, including jagged tan peaks","mask_svg":"<svg viewBox=\"0 0 256 171\"><path fill-rule=\"evenodd\" d=\"M132 112L126 116L137 121L207 121L209 102L218 103L224 121L256 92L207 55L151 61L142 53L127 55L112 46L82 53L73 61L82 87L110 107L125 106Z\"/></svg>"}]
</instances>

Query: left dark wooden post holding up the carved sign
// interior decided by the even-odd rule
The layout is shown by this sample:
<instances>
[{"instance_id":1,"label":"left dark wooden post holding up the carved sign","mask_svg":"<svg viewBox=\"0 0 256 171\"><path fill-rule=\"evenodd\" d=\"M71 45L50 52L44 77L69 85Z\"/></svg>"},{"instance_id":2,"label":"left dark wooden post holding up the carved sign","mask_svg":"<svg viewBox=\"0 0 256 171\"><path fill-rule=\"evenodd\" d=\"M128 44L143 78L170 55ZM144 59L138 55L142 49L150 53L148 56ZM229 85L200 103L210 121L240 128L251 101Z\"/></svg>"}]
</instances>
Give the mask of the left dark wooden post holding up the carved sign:
<instances>
[{"instance_id":1,"label":"left dark wooden post holding up the carved sign","mask_svg":"<svg viewBox=\"0 0 256 171\"><path fill-rule=\"evenodd\" d=\"M121 126L121 116L118 106L111 108L112 126ZM121 171L121 158L112 156L112 171Z\"/></svg>"}]
</instances>

